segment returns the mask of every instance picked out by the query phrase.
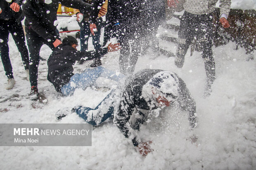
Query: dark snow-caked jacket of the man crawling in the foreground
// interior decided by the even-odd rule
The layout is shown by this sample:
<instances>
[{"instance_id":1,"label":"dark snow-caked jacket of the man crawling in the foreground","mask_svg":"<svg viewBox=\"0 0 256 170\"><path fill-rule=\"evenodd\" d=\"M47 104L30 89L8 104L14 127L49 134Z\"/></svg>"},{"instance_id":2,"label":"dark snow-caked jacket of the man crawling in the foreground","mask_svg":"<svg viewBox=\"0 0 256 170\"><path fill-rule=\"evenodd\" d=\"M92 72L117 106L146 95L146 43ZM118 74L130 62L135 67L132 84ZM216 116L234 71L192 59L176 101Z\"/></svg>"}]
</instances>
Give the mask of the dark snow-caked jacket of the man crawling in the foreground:
<instances>
[{"instance_id":1,"label":"dark snow-caked jacket of the man crawling in the foreground","mask_svg":"<svg viewBox=\"0 0 256 170\"><path fill-rule=\"evenodd\" d=\"M119 128L121 133L125 137L131 137L133 145L137 146L140 143L140 137L137 135L135 130L132 128L129 122L130 116L133 114L135 109L153 110L157 107L150 108L149 103L142 97L142 87L145 85L154 75L164 70L151 70L145 69L137 72L126 81L126 87L121 96L117 114L114 116L114 123ZM176 74L175 74L176 75ZM176 75L178 77L178 75ZM179 79L179 98L177 102L180 104L181 109L189 112L190 126L195 127L196 123L196 104L190 92L188 91L186 84L183 80ZM151 101L149 101L151 102ZM154 102L150 103L154 105ZM145 115L147 116L147 115Z\"/></svg>"}]
</instances>

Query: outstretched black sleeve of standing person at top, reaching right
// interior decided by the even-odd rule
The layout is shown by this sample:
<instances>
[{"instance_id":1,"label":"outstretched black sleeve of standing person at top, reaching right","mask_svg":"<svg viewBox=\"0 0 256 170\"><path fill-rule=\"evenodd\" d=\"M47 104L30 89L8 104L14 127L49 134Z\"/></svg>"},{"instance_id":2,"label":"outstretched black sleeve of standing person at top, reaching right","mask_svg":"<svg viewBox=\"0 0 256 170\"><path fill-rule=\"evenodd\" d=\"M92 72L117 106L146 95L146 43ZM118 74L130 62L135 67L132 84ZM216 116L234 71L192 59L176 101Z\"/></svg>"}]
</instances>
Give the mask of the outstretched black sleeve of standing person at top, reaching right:
<instances>
[{"instance_id":1,"label":"outstretched black sleeve of standing person at top, reaching right","mask_svg":"<svg viewBox=\"0 0 256 170\"><path fill-rule=\"evenodd\" d=\"M82 0L59 0L65 7L71 7L85 12L90 12L91 5L89 3L83 2Z\"/></svg>"}]
</instances>

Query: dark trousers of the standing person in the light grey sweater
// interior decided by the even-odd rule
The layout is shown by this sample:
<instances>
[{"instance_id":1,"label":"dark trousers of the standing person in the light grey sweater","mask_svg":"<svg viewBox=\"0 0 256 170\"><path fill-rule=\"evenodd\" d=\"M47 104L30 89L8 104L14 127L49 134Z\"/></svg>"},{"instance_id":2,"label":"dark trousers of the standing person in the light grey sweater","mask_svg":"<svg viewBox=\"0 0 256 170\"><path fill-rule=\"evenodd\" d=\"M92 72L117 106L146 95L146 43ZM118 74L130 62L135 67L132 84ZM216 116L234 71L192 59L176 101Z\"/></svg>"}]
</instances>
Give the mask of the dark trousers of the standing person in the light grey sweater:
<instances>
[{"instance_id":1,"label":"dark trousers of the standing person in the light grey sweater","mask_svg":"<svg viewBox=\"0 0 256 170\"><path fill-rule=\"evenodd\" d=\"M211 14L194 15L188 12L183 14L180 21L178 33L177 56L184 57L187 49L193 40L197 40L202 49L202 58L204 58L204 67L207 76L207 82L213 82L215 79L215 60L212 52L213 40L213 21Z\"/></svg>"}]
</instances>

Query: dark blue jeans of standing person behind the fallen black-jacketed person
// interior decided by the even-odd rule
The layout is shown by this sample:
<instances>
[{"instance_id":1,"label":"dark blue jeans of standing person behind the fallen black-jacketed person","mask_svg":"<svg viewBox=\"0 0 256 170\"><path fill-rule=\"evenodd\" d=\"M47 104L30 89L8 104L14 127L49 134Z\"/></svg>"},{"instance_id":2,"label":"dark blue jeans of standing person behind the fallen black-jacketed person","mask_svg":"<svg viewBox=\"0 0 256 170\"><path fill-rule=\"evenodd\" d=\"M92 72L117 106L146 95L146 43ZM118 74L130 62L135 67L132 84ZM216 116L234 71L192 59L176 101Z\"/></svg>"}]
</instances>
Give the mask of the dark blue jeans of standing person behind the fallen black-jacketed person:
<instances>
[{"instance_id":1,"label":"dark blue jeans of standing person behind the fallen black-jacketed person","mask_svg":"<svg viewBox=\"0 0 256 170\"><path fill-rule=\"evenodd\" d=\"M80 44L81 51L86 51L88 49L88 39L90 37L91 31L89 27L89 23L83 22L80 28ZM98 25L98 24L97 24ZM97 32L95 32L95 36L92 36L92 44L94 49L100 49L100 27L97 26Z\"/></svg>"}]
</instances>

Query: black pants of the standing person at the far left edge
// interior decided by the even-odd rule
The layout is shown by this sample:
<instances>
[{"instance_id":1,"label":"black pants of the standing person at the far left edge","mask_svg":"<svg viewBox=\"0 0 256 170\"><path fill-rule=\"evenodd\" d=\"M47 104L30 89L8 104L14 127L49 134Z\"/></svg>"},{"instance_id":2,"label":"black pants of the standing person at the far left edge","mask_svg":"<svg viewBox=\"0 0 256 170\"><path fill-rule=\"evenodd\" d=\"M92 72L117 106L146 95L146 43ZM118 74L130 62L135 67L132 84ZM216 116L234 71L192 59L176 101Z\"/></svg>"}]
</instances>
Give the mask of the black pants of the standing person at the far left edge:
<instances>
[{"instance_id":1,"label":"black pants of the standing person at the far left edge","mask_svg":"<svg viewBox=\"0 0 256 170\"><path fill-rule=\"evenodd\" d=\"M21 54L25 69L28 69L29 58L21 22L17 23L14 18L9 20L0 19L0 55L5 69L5 75L7 75L8 78L13 78L12 64L9 58L9 46L7 43L9 40L9 33L12 34L12 38Z\"/></svg>"}]
</instances>

